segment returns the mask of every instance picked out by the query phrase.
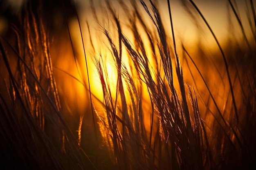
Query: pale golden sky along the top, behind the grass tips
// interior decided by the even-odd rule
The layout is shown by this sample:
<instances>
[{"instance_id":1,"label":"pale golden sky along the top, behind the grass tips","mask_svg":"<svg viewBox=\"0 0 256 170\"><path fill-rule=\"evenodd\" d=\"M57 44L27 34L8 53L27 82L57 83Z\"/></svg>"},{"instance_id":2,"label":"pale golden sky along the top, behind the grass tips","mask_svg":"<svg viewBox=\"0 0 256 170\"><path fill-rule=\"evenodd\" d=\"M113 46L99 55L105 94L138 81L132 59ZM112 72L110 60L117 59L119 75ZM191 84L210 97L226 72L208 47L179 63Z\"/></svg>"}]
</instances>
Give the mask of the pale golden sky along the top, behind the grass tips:
<instances>
[{"instance_id":1,"label":"pale golden sky along the top, behind the grass tips","mask_svg":"<svg viewBox=\"0 0 256 170\"><path fill-rule=\"evenodd\" d=\"M107 15L106 15L106 7L104 7L104 1L94 0L94 5L96 7L97 14L104 13L103 19L100 20L103 22L107 22ZM102 3L99 3L102 2ZM122 17L126 15L124 11L122 11L120 5L117 3L117 0L110 0L113 7L115 8L116 12L119 14L119 19L122 22ZM126 1L124 1L126 2ZM148 3L147 0L145 0ZM201 10L202 14L209 22L211 28L213 29L214 33L216 34L218 40L221 43L224 43L224 40L227 39L228 36L236 36L241 37L240 27L238 26L238 22L236 21L234 13L231 11L231 7L228 5L228 1L226 0L194 0L195 4ZM233 1L232 1L233 2ZM88 20L90 27L92 29L97 29L96 27L98 24L95 24L95 20L92 19L92 14L90 11L90 1L82 1L76 0L78 7L81 9L81 18L82 20ZM234 3L234 2L233 2ZM249 1L247 2L249 4ZM128 4L128 3L127 3ZM159 11L162 16L163 23L166 26L166 31L169 31L169 35L171 35L171 24L168 15L168 5L167 0L159 0ZM207 44L208 48L215 48L216 43L214 42L210 31L207 29L206 25L203 23L202 19L199 17L198 13L194 13L196 22L199 23L200 30L198 30L195 26L195 20L191 17L191 15L184 9L182 6L181 0L170 0L171 4L171 12L173 17L173 24L175 29L175 36L176 39L182 40L184 44L187 46L193 47L196 42L198 42L198 38L200 37L201 42L203 44ZM190 3L189 3L190 4ZM246 4L245 0L237 0L236 1L239 16L242 18L242 23L247 33L247 36L251 34L249 30L249 23L246 16ZM235 5L235 4L234 4ZM102 8L103 7L103 8ZM141 11L144 12L144 9L141 7L141 4L138 1L138 7ZM229 8L229 9L228 9ZM230 11L230 16L232 20L232 24L228 22L228 11ZM146 16L146 15L145 15ZM147 17L147 16L146 16ZM147 17L148 22L150 19ZM94 25L95 24L95 25ZM95 27L94 27L95 26ZM94 28L93 28L94 27ZM177 42L179 44L179 42Z\"/></svg>"}]
</instances>

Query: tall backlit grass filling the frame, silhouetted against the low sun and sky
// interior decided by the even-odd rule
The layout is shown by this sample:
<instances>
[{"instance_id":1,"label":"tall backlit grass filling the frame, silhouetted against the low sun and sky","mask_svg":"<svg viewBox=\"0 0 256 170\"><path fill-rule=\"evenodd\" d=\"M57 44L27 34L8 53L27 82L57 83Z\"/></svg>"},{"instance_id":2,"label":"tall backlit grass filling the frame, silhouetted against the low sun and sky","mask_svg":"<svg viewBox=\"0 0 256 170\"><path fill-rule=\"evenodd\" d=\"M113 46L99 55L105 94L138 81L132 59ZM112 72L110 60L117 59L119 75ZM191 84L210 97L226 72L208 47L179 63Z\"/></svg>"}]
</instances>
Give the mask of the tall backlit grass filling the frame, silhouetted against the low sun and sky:
<instances>
[{"instance_id":1,"label":"tall backlit grass filling the frame, silhouetted against the low sun and sky","mask_svg":"<svg viewBox=\"0 0 256 170\"><path fill-rule=\"evenodd\" d=\"M227 46L220 45L195 2L181 1L190 15L198 15L196 22L202 21L213 36L218 46L216 53L208 53L204 48L191 53L185 44L179 46L169 0L169 23L164 24L157 2L118 2L126 16L120 18L111 1L106 0L107 26L101 23L90 2L94 20L106 40L106 56L97 51L97 37L90 33L89 22L89 32L84 36L82 21L74 4L68 1L59 4L61 28L54 26L48 15L49 11L54 13L54 6L43 1L28 1L17 20L9 20L8 33L0 37L2 167L256 168L253 1L247 6L250 38L245 34L236 3L228 1L230 15L236 18L230 22L239 23L243 35L239 41L243 43L234 38ZM88 53L83 48L86 67L82 71L70 31L72 16L79 21L81 40L89 39L92 49ZM166 24L171 29L166 30ZM127 26L129 35L124 31ZM61 47L61 41L53 43L54 38L62 36L70 43L64 43L65 53L68 48L72 51L78 77L52 64ZM101 97L91 89L94 79L89 74L89 58L97 68ZM112 73L106 61L114 63ZM91 103L87 110L73 113L76 109L69 107L56 81L60 77L54 71L61 71L84 86L89 93L84 94L86 101ZM85 105L83 101L79 104Z\"/></svg>"}]
</instances>

